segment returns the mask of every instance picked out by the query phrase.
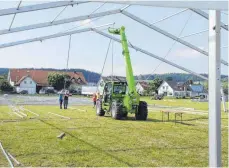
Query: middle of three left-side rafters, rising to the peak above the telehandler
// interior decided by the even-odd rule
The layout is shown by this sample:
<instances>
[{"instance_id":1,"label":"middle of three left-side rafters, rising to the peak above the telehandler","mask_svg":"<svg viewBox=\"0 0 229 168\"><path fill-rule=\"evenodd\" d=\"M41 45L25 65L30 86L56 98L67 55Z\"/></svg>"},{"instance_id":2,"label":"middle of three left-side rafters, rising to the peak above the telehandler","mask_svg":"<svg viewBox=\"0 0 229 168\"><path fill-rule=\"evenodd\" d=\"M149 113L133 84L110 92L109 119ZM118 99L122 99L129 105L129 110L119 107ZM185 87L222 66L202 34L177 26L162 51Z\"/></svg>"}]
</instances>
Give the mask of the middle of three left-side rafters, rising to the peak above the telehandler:
<instances>
[{"instance_id":1,"label":"middle of three left-side rafters, rising to the peak above the telehandler","mask_svg":"<svg viewBox=\"0 0 229 168\"><path fill-rule=\"evenodd\" d=\"M60 24L66 24L66 23L71 23L71 22L77 22L80 20L92 19L92 18L107 16L107 15L113 15L113 14L117 14L120 12L121 12L121 9L116 9L116 10L110 10L106 12L95 13L91 15L84 15L84 16L78 16L78 17L73 17L73 18L68 18L68 19L57 20L53 22L44 22L44 23L32 24L28 26L15 27L15 28L11 28L10 30L9 29L0 30L0 35L20 32L20 31L26 31L26 30L32 30L32 29L38 29L38 28L43 28L43 27L49 27L49 26L54 26L54 25L60 25Z\"/></svg>"}]
</instances>

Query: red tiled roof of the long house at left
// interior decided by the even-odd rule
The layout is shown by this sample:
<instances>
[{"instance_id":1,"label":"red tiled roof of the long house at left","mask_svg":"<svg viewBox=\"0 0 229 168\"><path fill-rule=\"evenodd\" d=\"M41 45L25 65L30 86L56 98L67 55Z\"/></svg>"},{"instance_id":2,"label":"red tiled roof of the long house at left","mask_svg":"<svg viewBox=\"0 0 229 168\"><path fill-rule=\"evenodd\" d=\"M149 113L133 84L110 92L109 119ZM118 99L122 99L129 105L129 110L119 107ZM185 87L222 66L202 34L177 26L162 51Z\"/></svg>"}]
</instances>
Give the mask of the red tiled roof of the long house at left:
<instances>
[{"instance_id":1,"label":"red tiled roof of the long house at left","mask_svg":"<svg viewBox=\"0 0 229 168\"><path fill-rule=\"evenodd\" d=\"M29 69L10 69L10 79L14 83L18 83L25 76L30 76L37 85L48 86L48 75L50 73L67 73L71 78L80 78L84 84L86 80L82 72L59 72L59 71L48 71L48 70L29 70Z\"/></svg>"}]
</instances>

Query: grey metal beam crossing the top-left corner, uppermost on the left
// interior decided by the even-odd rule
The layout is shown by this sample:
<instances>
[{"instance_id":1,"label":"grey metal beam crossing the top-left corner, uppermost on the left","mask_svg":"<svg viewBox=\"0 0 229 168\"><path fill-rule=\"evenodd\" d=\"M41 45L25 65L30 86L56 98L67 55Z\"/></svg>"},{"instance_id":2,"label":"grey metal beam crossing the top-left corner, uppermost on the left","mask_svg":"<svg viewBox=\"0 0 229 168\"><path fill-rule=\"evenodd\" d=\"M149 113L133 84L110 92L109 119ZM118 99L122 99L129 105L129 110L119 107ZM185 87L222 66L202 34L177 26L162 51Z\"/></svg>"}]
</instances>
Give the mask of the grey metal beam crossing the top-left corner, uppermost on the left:
<instances>
[{"instance_id":1,"label":"grey metal beam crossing the top-left corner, uppermost on the left","mask_svg":"<svg viewBox=\"0 0 229 168\"><path fill-rule=\"evenodd\" d=\"M1 9L0 16L11 15L16 13L24 13L24 12L31 12L43 9L50 9L50 8L58 8L61 6L69 6L69 5L78 5L82 3L87 3L89 1L59 1L59 2L49 2L37 5L28 5L23 6L20 8L9 8L9 9Z\"/></svg>"}]
</instances>

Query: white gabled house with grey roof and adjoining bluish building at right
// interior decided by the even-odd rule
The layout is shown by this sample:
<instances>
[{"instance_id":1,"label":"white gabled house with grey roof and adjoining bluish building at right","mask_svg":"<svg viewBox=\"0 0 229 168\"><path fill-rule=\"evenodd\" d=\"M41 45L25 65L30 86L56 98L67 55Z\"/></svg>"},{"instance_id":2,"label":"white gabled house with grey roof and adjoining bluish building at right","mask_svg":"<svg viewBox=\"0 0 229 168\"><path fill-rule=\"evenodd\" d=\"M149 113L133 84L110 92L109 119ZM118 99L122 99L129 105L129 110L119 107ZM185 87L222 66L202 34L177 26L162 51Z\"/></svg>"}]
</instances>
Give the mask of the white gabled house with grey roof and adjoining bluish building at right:
<instances>
[{"instance_id":1,"label":"white gabled house with grey roof and adjoining bluish building at right","mask_svg":"<svg viewBox=\"0 0 229 168\"><path fill-rule=\"evenodd\" d=\"M163 81L158 88L158 94L173 97L196 97L204 93L202 85L192 82Z\"/></svg>"}]
</instances>

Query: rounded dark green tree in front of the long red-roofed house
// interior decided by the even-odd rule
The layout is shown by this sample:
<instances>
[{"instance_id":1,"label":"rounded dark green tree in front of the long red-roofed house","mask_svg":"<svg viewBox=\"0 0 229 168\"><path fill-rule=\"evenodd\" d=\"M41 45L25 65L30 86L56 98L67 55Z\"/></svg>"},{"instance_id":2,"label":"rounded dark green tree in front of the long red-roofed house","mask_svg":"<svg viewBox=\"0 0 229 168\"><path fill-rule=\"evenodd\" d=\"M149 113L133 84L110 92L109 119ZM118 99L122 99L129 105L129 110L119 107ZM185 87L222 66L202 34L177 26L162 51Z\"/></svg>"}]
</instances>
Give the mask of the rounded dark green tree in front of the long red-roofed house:
<instances>
[{"instance_id":1,"label":"rounded dark green tree in front of the long red-roofed house","mask_svg":"<svg viewBox=\"0 0 229 168\"><path fill-rule=\"evenodd\" d=\"M71 84L70 79L71 77L67 74L51 73L48 76L48 83L49 85L54 87L54 89L61 90L61 89L64 89L64 85L65 85L65 88L68 88L70 86Z\"/></svg>"}]
</instances>

